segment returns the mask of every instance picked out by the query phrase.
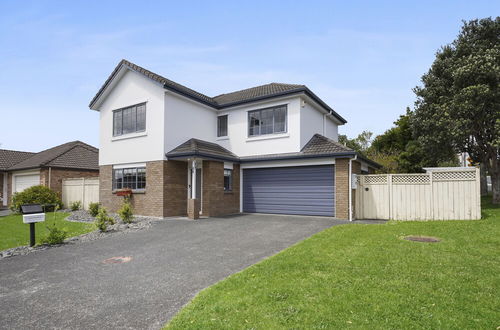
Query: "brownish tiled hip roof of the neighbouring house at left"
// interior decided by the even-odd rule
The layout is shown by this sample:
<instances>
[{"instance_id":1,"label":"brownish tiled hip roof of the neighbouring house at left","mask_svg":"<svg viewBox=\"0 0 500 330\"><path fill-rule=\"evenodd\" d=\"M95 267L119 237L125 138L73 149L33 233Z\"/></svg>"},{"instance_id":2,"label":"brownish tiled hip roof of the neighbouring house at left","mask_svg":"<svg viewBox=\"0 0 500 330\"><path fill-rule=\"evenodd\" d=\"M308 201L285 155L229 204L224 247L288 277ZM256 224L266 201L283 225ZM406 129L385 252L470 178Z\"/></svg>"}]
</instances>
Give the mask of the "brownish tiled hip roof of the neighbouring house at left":
<instances>
[{"instance_id":1,"label":"brownish tiled hip roof of the neighbouring house at left","mask_svg":"<svg viewBox=\"0 0 500 330\"><path fill-rule=\"evenodd\" d=\"M38 167L99 170L99 149L81 141L73 141L40 151L11 166L9 171Z\"/></svg>"}]
</instances>

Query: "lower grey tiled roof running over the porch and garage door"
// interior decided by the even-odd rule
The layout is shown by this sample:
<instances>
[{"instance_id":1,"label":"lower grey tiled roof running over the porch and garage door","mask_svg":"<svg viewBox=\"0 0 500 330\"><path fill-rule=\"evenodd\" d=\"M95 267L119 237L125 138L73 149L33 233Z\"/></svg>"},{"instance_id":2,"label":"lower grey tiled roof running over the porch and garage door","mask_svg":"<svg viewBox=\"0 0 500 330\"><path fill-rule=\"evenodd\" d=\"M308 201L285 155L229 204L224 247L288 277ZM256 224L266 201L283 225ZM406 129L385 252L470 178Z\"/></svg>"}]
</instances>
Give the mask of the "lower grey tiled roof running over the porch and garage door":
<instances>
[{"instance_id":1,"label":"lower grey tiled roof running over the porch and garage door","mask_svg":"<svg viewBox=\"0 0 500 330\"><path fill-rule=\"evenodd\" d=\"M321 134L314 134L300 152L238 157L216 143L198 139L190 139L166 154L167 158L170 159L180 157L206 157L243 163L321 157L353 157L355 155L357 155L359 159L370 164L370 166L376 168L380 167L379 164L363 157L353 149L348 148L341 143L333 141L327 137L324 137Z\"/></svg>"}]
</instances>

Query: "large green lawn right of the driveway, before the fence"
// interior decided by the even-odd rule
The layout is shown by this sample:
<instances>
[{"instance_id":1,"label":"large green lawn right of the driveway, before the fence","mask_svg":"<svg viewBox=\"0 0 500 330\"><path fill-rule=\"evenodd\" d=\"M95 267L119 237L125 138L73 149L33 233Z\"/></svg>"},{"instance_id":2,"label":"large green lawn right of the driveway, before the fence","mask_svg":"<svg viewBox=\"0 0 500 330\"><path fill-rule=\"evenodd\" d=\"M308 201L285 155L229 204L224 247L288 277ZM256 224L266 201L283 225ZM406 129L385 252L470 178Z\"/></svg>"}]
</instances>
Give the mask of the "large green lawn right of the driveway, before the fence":
<instances>
[{"instance_id":1,"label":"large green lawn right of the driveway, before the fence","mask_svg":"<svg viewBox=\"0 0 500 330\"><path fill-rule=\"evenodd\" d=\"M203 290L166 328L495 329L499 297L500 208L483 200L483 220L322 231Z\"/></svg>"}]
</instances>

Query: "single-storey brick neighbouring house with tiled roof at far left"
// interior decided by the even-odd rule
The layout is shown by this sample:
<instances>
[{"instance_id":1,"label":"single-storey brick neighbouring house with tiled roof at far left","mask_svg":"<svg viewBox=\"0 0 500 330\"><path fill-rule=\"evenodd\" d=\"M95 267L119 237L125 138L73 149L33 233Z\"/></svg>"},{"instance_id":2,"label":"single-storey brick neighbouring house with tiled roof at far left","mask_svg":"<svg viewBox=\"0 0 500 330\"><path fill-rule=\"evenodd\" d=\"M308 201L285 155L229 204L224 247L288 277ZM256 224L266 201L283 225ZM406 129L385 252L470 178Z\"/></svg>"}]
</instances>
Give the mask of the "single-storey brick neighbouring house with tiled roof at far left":
<instances>
[{"instance_id":1,"label":"single-storey brick neighbouring house with tiled roof at far left","mask_svg":"<svg viewBox=\"0 0 500 330\"><path fill-rule=\"evenodd\" d=\"M80 141L37 153L0 149L1 206L10 204L13 193L36 185L61 195L63 179L98 177L98 159L99 150Z\"/></svg>"}]
</instances>

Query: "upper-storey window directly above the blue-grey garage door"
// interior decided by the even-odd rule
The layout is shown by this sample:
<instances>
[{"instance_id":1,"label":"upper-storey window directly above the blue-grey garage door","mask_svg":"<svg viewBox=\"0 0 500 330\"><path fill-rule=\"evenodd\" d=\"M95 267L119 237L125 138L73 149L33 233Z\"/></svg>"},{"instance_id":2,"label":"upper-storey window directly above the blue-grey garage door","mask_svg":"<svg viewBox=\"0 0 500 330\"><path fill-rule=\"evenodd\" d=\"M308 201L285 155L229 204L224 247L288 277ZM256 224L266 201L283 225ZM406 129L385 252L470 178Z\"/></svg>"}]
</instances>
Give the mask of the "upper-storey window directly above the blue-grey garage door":
<instances>
[{"instance_id":1,"label":"upper-storey window directly above the blue-grey garage door","mask_svg":"<svg viewBox=\"0 0 500 330\"><path fill-rule=\"evenodd\" d=\"M286 132L287 106L249 111L248 136Z\"/></svg>"}]
</instances>

